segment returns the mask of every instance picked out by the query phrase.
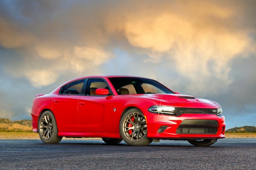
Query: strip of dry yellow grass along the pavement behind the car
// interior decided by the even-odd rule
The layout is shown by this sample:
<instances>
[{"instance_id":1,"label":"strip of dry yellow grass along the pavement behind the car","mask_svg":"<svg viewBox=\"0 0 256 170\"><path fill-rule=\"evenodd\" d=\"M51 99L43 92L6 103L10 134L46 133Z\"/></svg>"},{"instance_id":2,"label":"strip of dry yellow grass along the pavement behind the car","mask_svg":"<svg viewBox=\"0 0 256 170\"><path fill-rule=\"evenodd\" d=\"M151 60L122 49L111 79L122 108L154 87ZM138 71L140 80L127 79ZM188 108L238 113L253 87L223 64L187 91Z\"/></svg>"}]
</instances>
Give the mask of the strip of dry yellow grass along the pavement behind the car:
<instances>
[{"instance_id":1,"label":"strip of dry yellow grass along the pavement behind the car","mask_svg":"<svg viewBox=\"0 0 256 170\"><path fill-rule=\"evenodd\" d=\"M226 133L226 138L256 138L256 133ZM34 132L0 132L0 139L40 139L38 133ZM101 138L63 138L75 139L101 139Z\"/></svg>"}]
</instances>

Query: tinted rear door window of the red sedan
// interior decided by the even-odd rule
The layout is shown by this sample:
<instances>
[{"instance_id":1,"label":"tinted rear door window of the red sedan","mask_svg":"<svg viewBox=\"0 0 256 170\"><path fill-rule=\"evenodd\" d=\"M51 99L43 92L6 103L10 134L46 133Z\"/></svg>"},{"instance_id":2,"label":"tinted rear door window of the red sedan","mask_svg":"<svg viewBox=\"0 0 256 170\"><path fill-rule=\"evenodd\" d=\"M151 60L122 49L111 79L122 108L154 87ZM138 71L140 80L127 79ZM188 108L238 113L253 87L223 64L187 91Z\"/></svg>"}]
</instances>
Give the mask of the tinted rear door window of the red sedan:
<instances>
[{"instance_id":1,"label":"tinted rear door window of the red sedan","mask_svg":"<svg viewBox=\"0 0 256 170\"><path fill-rule=\"evenodd\" d=\"M85 80L74 81L61 88L60 94L80 95Z\"/></svg>"}]
</instances>

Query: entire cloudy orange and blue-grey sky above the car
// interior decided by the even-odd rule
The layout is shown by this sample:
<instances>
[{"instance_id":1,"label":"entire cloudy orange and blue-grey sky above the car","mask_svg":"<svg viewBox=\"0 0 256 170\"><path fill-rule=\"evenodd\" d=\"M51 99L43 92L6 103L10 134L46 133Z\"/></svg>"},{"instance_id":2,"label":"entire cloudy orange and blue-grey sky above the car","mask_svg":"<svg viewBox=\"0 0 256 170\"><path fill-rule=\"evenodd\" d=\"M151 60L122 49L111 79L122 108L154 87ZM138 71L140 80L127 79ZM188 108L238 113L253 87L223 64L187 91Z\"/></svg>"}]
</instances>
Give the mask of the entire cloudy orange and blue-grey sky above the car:
<instances>
[{"instance_id":1,"label":"entire cloudy orange and blue-grey sky above the car","mask_svg":"<svg viewBox=\"0 0 256 170\"><path fill-rule=\"evenodd\" d=\"M0 117L75 77L137 75L256 125L256 1L0 1Z\"/></svg>"}]
</instances>

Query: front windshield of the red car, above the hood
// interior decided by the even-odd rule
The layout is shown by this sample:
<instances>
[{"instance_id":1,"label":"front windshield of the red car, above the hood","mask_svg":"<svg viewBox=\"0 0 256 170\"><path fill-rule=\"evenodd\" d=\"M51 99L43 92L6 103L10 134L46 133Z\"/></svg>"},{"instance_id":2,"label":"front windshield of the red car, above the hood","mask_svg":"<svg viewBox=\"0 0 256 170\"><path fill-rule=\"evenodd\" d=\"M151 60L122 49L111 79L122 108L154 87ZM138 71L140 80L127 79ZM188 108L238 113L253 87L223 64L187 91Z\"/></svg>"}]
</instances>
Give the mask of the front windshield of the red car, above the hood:
<instances>
[{"instance_id":1,"label":"front windshield of the red car, above the hood","mask_svg":"<svg viewBox=\"0 0 256 170\"><path fill-rule=\"evenodd\" d=\"M118 95L129 94L173 94L159 82L138 77L114 77L109 78Z\"/></svg>"}]
</instances>

